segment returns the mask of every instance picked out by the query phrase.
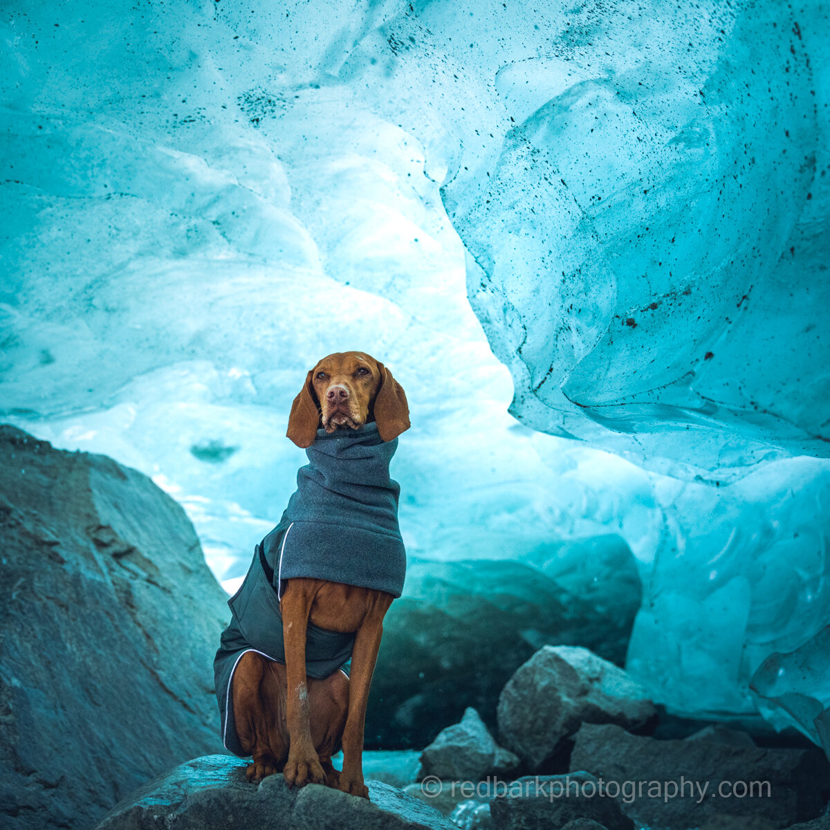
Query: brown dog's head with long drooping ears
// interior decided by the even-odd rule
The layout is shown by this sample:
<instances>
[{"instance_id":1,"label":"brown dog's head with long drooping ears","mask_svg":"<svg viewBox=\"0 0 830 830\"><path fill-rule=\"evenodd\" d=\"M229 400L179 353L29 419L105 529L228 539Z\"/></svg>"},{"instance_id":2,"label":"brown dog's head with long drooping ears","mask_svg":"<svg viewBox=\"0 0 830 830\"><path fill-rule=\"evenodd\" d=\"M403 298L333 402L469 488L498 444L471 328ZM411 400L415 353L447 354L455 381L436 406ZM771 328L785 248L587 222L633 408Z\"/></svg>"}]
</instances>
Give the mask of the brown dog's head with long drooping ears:
<instances>
[{"instance_id":1,"label":"brown dog's head with long drooping ears","mask_svg":"<svg viewBox=\"0 0 830 830\"><path fill-rule=\"evenodd\" d=\"M375 421L383 441L409 428L407 396L392 373L364 352L337 352L305 376L291 405L287 435L297 447L310 447L320 426L326 432L357 429Z\"/></svg>"}]
</instances>

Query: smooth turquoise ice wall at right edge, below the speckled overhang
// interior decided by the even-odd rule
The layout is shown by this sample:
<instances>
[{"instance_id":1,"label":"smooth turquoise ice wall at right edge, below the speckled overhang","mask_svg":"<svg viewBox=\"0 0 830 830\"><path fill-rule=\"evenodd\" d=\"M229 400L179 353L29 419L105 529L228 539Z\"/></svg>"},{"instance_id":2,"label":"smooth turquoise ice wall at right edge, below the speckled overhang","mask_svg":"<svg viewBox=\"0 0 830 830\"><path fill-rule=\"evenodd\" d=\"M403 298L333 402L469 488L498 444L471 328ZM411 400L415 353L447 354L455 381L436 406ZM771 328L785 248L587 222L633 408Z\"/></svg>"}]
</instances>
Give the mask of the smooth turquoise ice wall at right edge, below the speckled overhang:
<instances>
[{"instance_id":1,"label":"smooth turquoise ice wall at right edge, below the speckled overhang","mask_svg":"<svg viewBox=\"0 0 830 830\"><path fill-rule=\"evenodd\" d=\"M751 712L759 666L828 625L830 468L802 457L728 487L662 487L627 669L679 710Z\"/></svg>"}]
</instances>

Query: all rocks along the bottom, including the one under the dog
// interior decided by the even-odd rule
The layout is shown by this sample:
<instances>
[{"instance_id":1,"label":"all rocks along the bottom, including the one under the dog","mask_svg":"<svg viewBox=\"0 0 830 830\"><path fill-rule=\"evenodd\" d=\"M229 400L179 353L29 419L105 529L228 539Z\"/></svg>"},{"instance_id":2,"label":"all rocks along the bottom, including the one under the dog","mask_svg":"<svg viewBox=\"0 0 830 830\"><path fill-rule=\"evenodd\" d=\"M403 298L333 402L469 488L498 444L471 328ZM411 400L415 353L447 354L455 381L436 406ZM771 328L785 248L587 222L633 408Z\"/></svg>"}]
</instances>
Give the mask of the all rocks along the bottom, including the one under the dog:
<instances>
[{"instance_id":1,"label":"all rocks along the bottom, including the one under the dog","mask_svg":"<svg viewBox=\"0 0 830 830\"><path fill-rule=\"evenodd\" d=\"M818 749L759 748L712 726L650 737L646 691L584 648L541 648L496 714L498 741L468 708L423 750L417 782L371 782L369 802L314 785L292 793L280 775L248 784L237 759L210 756L147 784L97 830L830 830L818 818L830 789Z\"/></svg>"}]
</instances>

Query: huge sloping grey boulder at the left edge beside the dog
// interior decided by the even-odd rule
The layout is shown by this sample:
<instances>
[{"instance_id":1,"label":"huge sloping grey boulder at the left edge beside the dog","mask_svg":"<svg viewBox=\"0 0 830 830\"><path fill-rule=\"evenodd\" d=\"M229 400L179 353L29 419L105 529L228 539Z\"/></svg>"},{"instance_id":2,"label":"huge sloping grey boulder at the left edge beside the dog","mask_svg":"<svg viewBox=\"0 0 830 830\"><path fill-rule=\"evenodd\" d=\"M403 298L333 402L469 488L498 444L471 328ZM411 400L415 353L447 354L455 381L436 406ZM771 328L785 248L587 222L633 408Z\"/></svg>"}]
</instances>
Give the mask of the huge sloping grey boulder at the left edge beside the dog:
<instances>
[{"instance_id":1,"label":"huge sloping grey boulder at the left edge beside the dog","mask_svg":"<svg viewBox=\"0 0 830 830\"><path fill-rule=\"evenodd\" d=\"M147 476L0 427L0 825L88 830L221 749L226 597Z\"/></svg>"}]
</instances>

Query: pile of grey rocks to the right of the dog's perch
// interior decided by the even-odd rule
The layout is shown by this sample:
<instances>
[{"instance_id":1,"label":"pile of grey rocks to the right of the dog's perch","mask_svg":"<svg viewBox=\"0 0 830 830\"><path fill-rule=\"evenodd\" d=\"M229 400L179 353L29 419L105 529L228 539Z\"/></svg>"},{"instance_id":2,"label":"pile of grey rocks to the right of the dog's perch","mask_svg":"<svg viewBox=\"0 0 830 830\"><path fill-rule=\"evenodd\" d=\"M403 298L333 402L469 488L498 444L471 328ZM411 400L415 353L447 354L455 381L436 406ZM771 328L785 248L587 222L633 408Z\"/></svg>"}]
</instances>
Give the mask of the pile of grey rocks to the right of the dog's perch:
<instances>
[{"instance_id":1,"label":"pile of grey rocks to the right of the dog's perch","mask_svg":"<svg viewBox=\"0 0 830 830\"><path fill-rule=\"evenodd\" d=\"M817 818L830 790L818 749L763 749L713 726L649 737L646 691L583 648L536 652L501 692L497 722L502 746L467 710L424 749L408 792L463 828L782 830L814 819L809 830L830 830Z\"/></svg>"}]
</instances>

